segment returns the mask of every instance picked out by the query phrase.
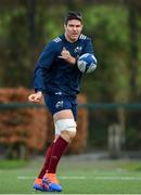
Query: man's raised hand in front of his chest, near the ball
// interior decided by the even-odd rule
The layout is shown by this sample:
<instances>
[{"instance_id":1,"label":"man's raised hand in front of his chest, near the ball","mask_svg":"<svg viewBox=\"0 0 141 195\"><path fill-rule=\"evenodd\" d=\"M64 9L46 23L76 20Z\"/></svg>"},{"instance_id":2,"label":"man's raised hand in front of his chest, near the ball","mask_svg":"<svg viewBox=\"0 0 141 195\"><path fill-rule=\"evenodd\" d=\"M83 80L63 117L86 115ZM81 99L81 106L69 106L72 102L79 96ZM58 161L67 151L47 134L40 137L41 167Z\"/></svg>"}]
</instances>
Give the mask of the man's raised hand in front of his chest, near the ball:
<instances>
[{"instance_id":1,"label":"man's raised hand in front of his chest, near the ball","mask_svg":"<svg viewBox=\"0 0 141 195\"><path fill-rule=\"evenodd\" d=\"M63 48L61 55L59 57L65 60L66 62L68 62L69 64L73 64L73 65L76 63L76 58L73 57L70 55L69 51L66 50L65 48Z\"/></svg>"}]
</instances>

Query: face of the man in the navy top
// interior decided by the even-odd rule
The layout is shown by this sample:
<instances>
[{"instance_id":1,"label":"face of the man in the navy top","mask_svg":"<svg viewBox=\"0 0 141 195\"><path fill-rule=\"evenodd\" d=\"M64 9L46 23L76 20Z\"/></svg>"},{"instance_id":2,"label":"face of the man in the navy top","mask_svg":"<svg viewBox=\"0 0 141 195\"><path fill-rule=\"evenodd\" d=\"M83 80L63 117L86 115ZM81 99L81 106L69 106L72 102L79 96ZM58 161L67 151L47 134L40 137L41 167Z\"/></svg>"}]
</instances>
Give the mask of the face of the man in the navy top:
<instances>
[{"instance_id":1,"label":"face of the man in the navy top","mask_svg":"<svg viewBox=\"0 0 141 195\"><path fill-rule=\"evenodd\" d=\"M82 30L81 22L78 20L70 20L66 25L64 25L64 27L66 39L70 42L77 41Z\"/></svg>"}]
</instances>

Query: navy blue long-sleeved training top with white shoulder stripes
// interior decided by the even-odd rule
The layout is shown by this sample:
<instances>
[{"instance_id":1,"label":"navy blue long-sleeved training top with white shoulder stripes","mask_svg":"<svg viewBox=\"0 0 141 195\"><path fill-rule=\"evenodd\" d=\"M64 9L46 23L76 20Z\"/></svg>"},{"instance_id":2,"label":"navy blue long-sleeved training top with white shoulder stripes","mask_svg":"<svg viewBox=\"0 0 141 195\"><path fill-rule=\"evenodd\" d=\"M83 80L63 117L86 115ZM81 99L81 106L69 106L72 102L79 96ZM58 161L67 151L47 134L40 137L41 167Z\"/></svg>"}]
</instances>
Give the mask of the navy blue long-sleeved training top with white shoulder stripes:
<instances>
[{"instance_id":1,"label":"navy blue long-sleeved training top with white shoulder stripes","mask_svg":"<svg viewBox=\"0 0 141 195\"><path fill-rule=\"evenodd\" d=\"M48 94L76 95L79 93L81 73L77 65L60 58L63 48L74 57L93 53L91 39L80 35L76 42L68 42L59 36L46 46L35 69L34 89Z\"/></svg>"}]
</instances>

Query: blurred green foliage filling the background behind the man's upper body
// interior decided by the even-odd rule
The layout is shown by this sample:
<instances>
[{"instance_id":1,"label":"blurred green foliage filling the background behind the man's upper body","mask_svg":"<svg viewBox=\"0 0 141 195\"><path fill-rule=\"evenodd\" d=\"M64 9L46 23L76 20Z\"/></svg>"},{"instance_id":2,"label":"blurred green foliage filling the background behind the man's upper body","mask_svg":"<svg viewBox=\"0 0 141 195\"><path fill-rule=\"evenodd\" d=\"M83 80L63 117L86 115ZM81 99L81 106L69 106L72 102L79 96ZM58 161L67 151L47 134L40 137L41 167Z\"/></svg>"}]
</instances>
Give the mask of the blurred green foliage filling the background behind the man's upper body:
<instances>
[{"instance_id":1,"label":"blurred green foliage filling the background behind the man's upper body","mask_svg":"<svg viewBox=\"0 0 141 195\"><path fill-rule=\"evenodd\" d=\"M22 1L15 8L9 3L9 9L4 6L0 13L0 87L33 87L33 73L39 53L46 43L63 32L64 13L78 5L84 14L84 34L92 38L98 58L95 72L84 76L81 92L87 94L89 102L127 103L134 95L131 93L131 80L134 77L137 87L134 92L138 99L133 101L140 101L139 1L127 1L125 5L117 5L114 2L92 4L76 1L75 4L75 1L68 3L36 1L35 31L29 28L29 10L26 3ZM134 21L137 31L133 31L137 41L133 43L138 52L133 54L130 38L132 28L129 25L129 8L132 6L137 9ZM117 112L117 118L119 122L126 121L126 113L120 117Z\"/></svg>"}]
</instances>

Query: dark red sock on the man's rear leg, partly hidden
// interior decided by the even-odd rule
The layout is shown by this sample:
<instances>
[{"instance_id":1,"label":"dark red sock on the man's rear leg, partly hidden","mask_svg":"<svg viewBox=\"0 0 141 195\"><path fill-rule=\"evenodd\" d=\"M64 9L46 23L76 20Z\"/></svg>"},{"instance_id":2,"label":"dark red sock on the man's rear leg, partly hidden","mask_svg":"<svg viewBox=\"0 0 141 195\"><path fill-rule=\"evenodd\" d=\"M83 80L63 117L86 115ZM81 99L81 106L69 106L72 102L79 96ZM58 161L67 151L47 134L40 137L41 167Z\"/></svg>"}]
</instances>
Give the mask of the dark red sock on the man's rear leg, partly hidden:
<instances>
[{"instance_id":1,"label":"dark red sock on the man's rear leg, partly hidden","mask_svg":"<svg viewBox=\"0 0 141 195\"><path fill-rule=\"evenodd\" d=\"M46 153L46 160L43 164L43 167L38 176L39 179L42 179L43 176L47 172L47 169L49 168L49 164L50 164L50 158L51 158L51 154L52 154L52 148L53 148L54 142L51 143L51 145L49 146L47 153Z\"/></svg>"}]
</instances>

